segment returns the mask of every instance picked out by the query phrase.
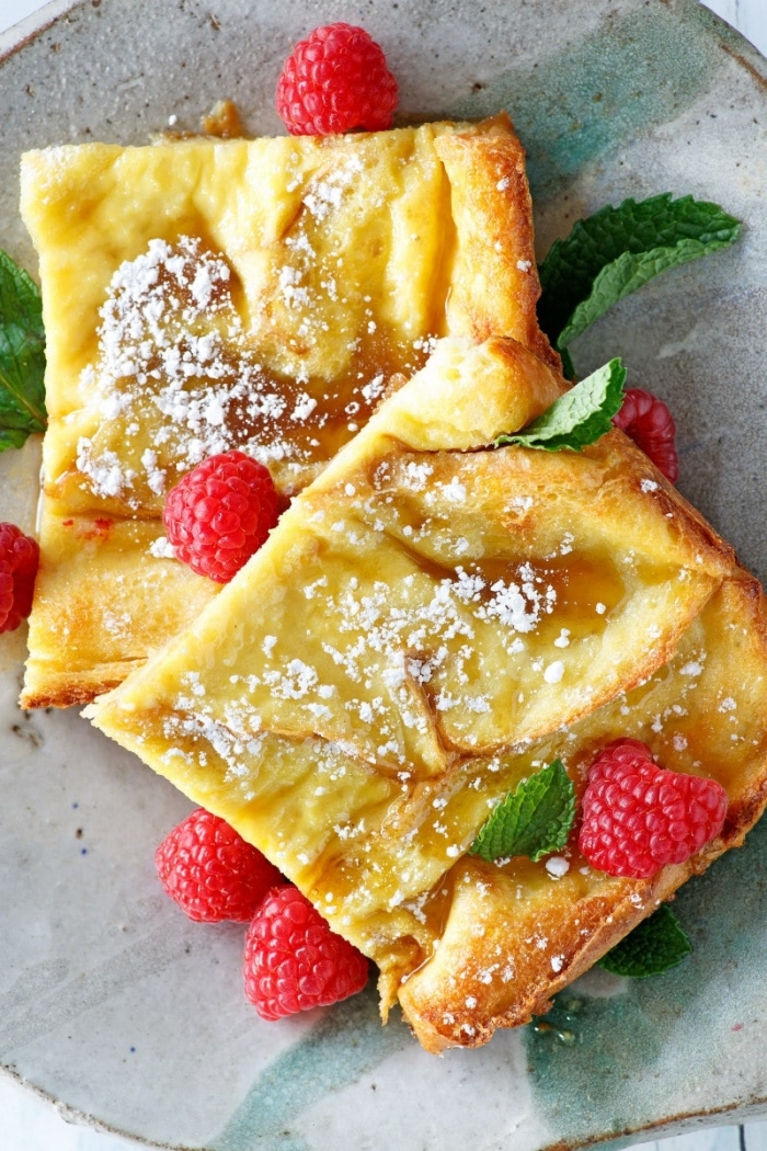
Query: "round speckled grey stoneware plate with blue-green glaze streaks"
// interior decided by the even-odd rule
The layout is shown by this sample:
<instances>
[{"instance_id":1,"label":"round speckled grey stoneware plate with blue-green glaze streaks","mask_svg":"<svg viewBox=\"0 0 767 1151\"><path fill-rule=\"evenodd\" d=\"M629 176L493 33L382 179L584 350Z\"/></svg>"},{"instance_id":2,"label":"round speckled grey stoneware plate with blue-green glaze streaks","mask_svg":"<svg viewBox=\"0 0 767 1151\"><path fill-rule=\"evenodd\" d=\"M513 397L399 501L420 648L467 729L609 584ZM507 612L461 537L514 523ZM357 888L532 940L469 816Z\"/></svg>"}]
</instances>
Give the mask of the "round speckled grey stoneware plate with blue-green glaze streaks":
<instances>
[{"instance_id":1,"label":"round speckled grey stoneware plate with blue-green glaze streaks","mask_svg":"<svg viewBox=\"0 0 767 1151\"><path fill-rule=\"evenodd\" d=\"M509 110L542 252L626 196L714 199L733 249L657 280L574 349L622 355L672 405L680 487L767 571L767 63L695 0L87 0L0 60L0 246L28 147L139 143L222 96L279 130L275 79L319 23L383 43L406 116ZM45 17L38 17L39 21ZM11 33L13 37L13 33ZM18 38L18 37L16 37ZM0 40L0 48L3 41ZM37 445L0 459L0 518L33 524ZM24 637L0 641L0 1060L68 1115L207 1151L537 1151L767 1107L767 825L678 898L692 958L589 976L534 1027L424 1054L373 991L267 1024L240 991L243 929L187 923L155 844L189 805L74 711L23 715Z\"/></svg>"}]
</instances>

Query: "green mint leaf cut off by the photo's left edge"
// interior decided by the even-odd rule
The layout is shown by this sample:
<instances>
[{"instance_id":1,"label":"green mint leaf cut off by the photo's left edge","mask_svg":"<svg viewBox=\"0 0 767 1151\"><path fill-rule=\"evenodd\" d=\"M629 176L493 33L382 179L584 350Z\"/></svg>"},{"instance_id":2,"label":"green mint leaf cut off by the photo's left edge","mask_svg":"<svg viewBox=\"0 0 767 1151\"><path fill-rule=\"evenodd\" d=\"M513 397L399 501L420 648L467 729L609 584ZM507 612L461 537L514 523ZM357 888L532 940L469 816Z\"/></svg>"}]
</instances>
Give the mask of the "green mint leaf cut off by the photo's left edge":
<instances>
[{"instance_id":1,"label":"green mint leaf cut off by the photo's left edge","mask_svg":"<svg viewBox=\"0 0 767 1151\"><path fill-rule=\"evenodd\" d=\"M44 432L45 330L34 281L0 252L0 451Z\"/></svg>"}]
</instances>

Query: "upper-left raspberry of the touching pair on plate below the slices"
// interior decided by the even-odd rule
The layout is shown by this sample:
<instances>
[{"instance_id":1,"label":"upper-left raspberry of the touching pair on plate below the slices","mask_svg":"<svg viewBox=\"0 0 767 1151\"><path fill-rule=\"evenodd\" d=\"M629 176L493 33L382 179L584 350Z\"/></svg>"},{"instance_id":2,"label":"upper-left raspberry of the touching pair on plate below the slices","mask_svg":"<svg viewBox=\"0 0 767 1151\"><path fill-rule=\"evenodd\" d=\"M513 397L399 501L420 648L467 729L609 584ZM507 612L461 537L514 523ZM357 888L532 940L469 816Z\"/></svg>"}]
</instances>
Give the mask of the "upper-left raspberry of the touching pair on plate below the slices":
<instances>
[{"instance_id":1,"label":"upper-left raspberry of the touching pair on plate below the slices","mask_svg":"<svg viewBox=\"0 0 767 1151\"><path fill-rule=\"evenodd\" d=\"M154 854L162 886L190 920L247 923L282 876L225 820L199 807Z\"/></svg>"}]
</instances>

